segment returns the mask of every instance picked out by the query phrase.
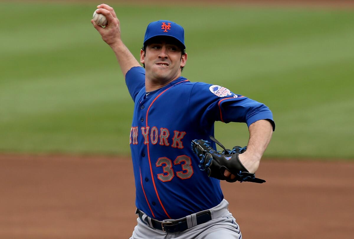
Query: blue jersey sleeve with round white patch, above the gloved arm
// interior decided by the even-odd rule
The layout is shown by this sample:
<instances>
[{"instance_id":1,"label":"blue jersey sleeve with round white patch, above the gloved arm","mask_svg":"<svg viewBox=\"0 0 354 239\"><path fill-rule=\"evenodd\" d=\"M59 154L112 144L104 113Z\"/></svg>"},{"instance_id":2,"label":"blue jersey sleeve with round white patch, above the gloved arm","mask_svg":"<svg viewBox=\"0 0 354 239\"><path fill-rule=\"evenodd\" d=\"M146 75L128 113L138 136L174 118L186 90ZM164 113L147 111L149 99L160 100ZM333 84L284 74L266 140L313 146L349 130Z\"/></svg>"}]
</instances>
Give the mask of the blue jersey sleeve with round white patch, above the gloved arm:
<instances>
[{"instance_id":1,"label":"blue jersey sleeve with round white patch, above the gloved arm","mask_svg":"<svg viewBox=\"0 0 354 239\"><path fill-rule=\"evenodd\" d=\"M257 120L269 120L275 130L273 114L263 103L237 95L219 85L195 83L189 100L192 117L200 119L201 127L215 121L240 122L250 126Z\"/></svg>"}]
</instances>

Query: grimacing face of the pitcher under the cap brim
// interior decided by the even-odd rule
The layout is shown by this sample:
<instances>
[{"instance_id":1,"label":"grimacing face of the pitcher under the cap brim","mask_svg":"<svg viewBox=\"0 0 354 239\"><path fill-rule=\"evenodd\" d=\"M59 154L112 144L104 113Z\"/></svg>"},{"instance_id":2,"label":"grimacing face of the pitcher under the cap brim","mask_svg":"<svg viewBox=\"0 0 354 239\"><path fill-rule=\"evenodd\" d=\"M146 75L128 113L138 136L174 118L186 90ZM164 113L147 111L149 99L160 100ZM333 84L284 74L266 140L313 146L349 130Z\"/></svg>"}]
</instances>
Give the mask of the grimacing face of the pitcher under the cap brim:
<instances>
[{"instance_id":1,"label":"grimacing face of the pitcher under the cap brim","mask_svg":"<svg viewBox=\"0 0 354 239\"><path fill-rule=\"evenodd\" d=\"M157 39L147 45L145 52L141 51L140 60L145 64L147 79L163 84L181 76L187 54L182 55L176 44L168 38Z\"/></svg>"}]
</instances>

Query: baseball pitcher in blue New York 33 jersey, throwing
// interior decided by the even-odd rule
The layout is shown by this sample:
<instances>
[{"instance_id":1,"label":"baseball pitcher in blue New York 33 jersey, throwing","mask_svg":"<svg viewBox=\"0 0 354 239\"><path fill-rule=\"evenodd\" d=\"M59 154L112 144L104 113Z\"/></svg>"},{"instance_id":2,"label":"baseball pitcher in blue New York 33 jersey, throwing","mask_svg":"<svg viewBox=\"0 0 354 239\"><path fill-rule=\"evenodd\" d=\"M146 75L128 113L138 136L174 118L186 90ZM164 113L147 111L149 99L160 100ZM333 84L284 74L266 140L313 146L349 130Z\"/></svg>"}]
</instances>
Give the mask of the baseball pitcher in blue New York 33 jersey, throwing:
<instances>
[{"instance_id":1,"label":"baseball pitcher in blue New York 33 jersey, throwing","mask_svg":"<svg viewBox=\"0 0 354 239\"><path fill-rule=\"evenodd\" d=\"M108 25L91 23L113 49L135 103L130 148L138 218L131 238L241 238L219 179L255 180L275 128L269 108L225 87L182 77L187 62L184 29L168 20L147 26L140 51L142 67L121 40L113 8L106 4L97 8ZM214 135L215 121L246 123L247 150L212 151L216 145L208 140ZM200 142L209 148L197 149ZM211 174L205 170L211 165L210 153L215 157L212 165L219 165L217 177L214 169ZM244 166L241 171L251 176L240 179L238 170L216 162L217 157L232 165L239 162Z\"/></svg>"}]
</instances>

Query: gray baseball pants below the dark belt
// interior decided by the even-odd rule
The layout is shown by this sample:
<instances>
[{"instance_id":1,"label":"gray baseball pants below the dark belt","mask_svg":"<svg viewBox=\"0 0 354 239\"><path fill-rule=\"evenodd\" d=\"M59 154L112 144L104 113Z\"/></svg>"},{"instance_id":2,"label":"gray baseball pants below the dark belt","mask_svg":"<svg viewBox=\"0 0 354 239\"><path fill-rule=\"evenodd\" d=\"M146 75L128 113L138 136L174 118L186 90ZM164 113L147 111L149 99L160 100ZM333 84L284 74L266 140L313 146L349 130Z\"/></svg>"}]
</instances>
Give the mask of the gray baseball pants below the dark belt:
<instances>
[{"instance_id":1,"label":"gray baseball pants below the dark belt","mask_svg":"<svg viewBox=\"0 0 354 239\"><path fill-rule=\"evenodd\" d=\"M229 203L223 199L219 205L210 209L211 220L200 225L193 226L193 214L187 216L187 230L182 232L167 233L159 229L154 229L149 225L149 217L144 215L142 222L138 217L138 225L135 226L130 239L242 239L240 227L235 218L229 212Z\"/></svg>"}]
</instances>

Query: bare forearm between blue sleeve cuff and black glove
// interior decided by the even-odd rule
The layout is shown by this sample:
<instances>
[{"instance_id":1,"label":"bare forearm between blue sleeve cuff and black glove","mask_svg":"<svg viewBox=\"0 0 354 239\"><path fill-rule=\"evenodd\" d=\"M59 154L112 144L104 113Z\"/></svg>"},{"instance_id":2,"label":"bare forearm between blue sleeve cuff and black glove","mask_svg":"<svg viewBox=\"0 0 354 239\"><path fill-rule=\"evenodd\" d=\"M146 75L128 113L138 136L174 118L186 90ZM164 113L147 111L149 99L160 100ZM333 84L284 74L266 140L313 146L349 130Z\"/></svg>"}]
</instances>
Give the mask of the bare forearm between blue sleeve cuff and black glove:
<instances>
[{"instance_id":1,"label":"bare forearm between blue sleeve cuff and black glove","mask_svg":"<svg viewBox=\"0 0 354 239\"><path fill-rule=\"evenodd\" d=\"M262 155L272 138L273 126L268 120L258 120L249 127L250 139L245 153L239 155L249 172L257 171Z\"/></svg>"}]
</instances>

